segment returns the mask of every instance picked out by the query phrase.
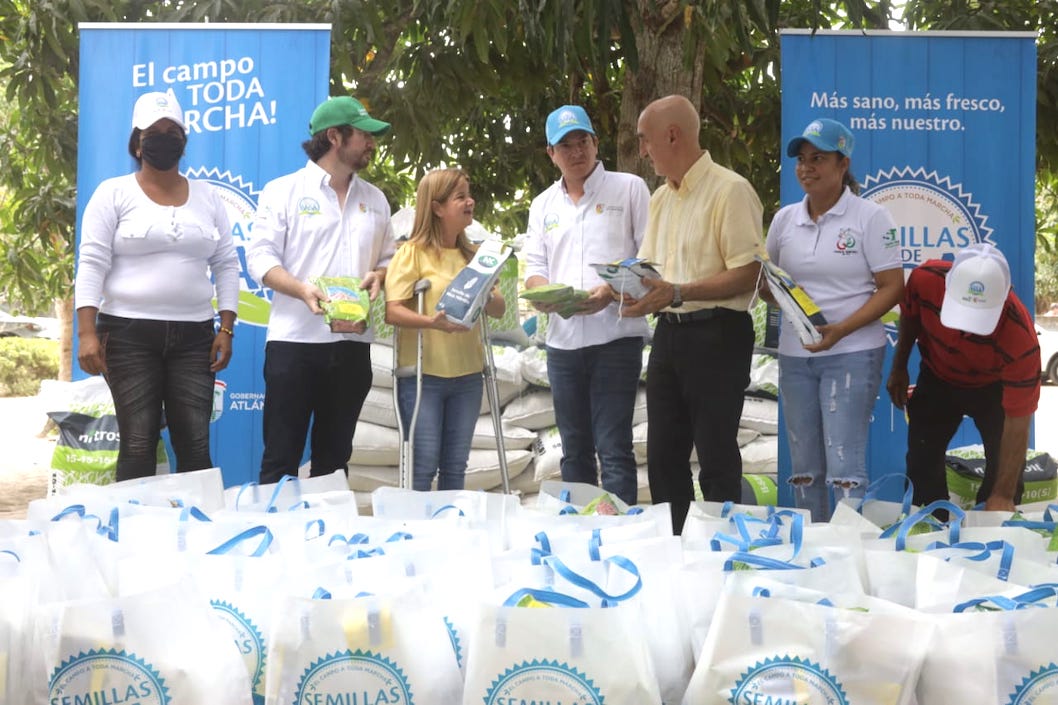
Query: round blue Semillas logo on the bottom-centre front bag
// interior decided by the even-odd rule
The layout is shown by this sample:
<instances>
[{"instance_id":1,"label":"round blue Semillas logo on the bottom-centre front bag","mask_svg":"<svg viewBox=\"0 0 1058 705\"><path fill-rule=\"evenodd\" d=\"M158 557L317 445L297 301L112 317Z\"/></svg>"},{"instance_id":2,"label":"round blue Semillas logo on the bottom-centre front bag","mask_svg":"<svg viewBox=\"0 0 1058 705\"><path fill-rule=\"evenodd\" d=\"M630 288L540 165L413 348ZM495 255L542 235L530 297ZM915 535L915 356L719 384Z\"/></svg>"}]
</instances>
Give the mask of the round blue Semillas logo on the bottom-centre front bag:
<instances>
[{"instance_id":1,"label":"round blue Semillas logo on the bottom-centre front bag","mask_svg":"<svg viewBox=\"0 0 1058 705\"><path fill-rule=\"evenodd\" d=\"M507 669L489 687L485 705L562 703L603 705L602 693L576 668L557 661L523 662Z\"/></svg>"}]
</instances>

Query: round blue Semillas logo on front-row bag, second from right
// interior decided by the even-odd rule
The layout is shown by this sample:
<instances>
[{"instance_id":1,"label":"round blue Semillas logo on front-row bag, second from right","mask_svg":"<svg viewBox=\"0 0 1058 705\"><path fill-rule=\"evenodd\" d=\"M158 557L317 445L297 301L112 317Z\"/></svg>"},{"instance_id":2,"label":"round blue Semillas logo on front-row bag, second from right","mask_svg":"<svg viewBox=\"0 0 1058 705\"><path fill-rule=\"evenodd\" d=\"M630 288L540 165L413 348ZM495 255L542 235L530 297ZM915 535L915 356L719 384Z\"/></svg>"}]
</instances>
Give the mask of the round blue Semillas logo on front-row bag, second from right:
<instances>
[{"instance_id":1,"label":"round blue Semillas logo on front-row bag, second from right","mask_svg":"<svg viewBox=\"0 0 1058 705\"><path fill-rule=\"evenodd\" d=\"M849 705L849 698L837 680L818 664L782 656L766 658L746 671L731 689L730 702Z\"/></svg>"}]
</instances>

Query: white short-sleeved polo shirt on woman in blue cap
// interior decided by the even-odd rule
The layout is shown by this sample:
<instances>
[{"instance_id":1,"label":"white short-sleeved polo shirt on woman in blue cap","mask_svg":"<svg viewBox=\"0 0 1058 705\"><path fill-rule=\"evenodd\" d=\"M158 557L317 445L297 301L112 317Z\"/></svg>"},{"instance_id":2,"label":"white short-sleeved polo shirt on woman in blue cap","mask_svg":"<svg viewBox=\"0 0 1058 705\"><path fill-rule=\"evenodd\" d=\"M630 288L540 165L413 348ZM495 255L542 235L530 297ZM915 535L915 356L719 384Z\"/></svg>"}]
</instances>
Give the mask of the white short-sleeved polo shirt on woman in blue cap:
<instances>
[{"instance_id":1,"label":"white short-sleeved polo shirt on woman in blue cap","mask_svg":"<svg viewBox=\"0 0 1058 705\"><path fill-rule=\"evenodd\" d=\"M808 215L808 197L776 214L765 241L768 258L786 270L819 306L827 323L858 310L875 291L874 275L901 267L900 233L884 206L849 188L818 222ZM874 321L822 352L809 352L784 320L779 352L795 357L870 350L886 344L881 321Z\"/></svg>"}]
</instances>

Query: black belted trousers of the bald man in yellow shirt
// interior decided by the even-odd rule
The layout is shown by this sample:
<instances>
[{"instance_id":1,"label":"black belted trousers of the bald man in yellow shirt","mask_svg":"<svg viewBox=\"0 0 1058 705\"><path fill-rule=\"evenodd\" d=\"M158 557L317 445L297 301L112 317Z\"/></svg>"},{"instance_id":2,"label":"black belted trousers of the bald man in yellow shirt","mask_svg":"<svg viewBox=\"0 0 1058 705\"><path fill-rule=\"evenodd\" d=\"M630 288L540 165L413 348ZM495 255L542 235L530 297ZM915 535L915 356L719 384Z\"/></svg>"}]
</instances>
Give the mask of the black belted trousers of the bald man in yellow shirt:
<instances>
[{"instance_id":1,"label":"black belted trousers of the bald man in yellow shirt","mask_svg":"<svg viewBox=\"0 0 1058 705\"><path fill-rule=\"evenodd\" d=\"M749 384L753 324L745 311L716 309L705 321L658 322L646 366L646 462L651 499L672 505L679 534L694 500L691 448L707 501L742 500L738 421Z\"/></svg>"}]
</instances>

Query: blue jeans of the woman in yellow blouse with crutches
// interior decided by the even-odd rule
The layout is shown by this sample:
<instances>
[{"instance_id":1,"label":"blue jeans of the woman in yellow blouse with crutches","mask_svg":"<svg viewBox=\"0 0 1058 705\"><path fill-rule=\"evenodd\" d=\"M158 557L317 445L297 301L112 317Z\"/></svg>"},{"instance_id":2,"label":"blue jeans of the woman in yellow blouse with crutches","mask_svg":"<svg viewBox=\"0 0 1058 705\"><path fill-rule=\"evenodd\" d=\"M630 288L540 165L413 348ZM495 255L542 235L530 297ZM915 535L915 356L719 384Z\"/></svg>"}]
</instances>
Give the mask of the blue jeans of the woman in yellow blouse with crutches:
<instances>
[{"instance_id":1,"label":"blue jeans of the woman in yellow blouse with crutches","mask_svg":"<svg viewBox=\"0 0 1058 705\"><path fill-rule=\"evenodd\" d=\"M437 489L462 489L467 459L474 439L474 424L481 414L481 374L462 377L422 376L422 398L415 423L415 462L412 487L430 489L437 476ZM415 378L397 380L397 399L405 436L415 408Z\"/></svg>"}]
</instances>

